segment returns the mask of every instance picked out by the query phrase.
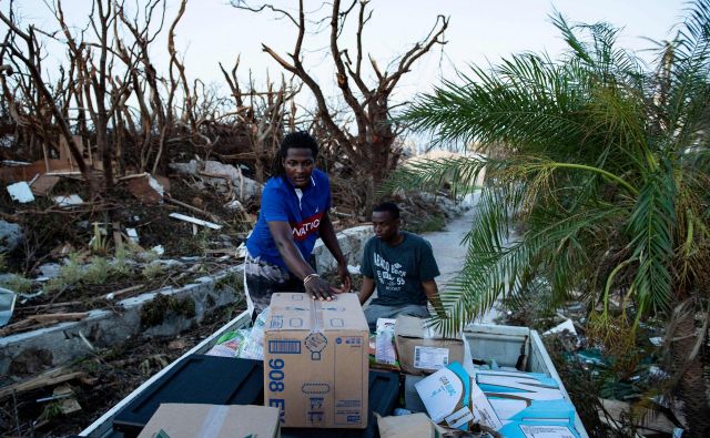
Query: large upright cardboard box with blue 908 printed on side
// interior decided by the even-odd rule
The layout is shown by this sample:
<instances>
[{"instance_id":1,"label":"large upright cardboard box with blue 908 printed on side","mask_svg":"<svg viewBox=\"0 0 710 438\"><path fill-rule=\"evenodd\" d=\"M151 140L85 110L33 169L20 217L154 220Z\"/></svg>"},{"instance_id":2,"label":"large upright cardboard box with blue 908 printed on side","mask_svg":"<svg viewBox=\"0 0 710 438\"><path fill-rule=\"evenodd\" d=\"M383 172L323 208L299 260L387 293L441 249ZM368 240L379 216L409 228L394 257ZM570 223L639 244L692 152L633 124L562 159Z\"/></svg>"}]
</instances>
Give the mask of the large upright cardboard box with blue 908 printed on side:
<instances>
[{"instance_id":1,"label":"large upright cardboard box with blue 908 printed on side","mask_svg":"<svg viewBox=\"0 0 710 438\"><path fill-rule=\"evenodd\" d=\"M357 295L276 293L264 336L264 404L286 427L367 427L368 328Z\"/></svg>"}]
</instances>

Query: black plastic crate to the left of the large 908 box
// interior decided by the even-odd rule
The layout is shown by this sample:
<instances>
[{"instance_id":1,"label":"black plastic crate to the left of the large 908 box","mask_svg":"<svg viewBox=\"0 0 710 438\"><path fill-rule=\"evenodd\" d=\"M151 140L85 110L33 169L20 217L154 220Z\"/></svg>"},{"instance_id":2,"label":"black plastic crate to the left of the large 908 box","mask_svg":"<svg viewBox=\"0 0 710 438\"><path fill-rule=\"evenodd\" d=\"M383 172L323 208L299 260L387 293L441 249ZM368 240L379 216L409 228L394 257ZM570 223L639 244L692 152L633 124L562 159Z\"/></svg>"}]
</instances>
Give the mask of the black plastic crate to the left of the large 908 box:
<instances>
[{"instance_id":1,"label":"black plastic crate to the left of the large 908 box","mask_svg":"<svg viewBox=\"0 0 710 438\"><path fill-rule=\"evenodd\" d=\"M187 356L121 409L113 419L113 429L125 437L138 436L161 403L263 405L263 363Z\"/></svg>"}]
</instances>

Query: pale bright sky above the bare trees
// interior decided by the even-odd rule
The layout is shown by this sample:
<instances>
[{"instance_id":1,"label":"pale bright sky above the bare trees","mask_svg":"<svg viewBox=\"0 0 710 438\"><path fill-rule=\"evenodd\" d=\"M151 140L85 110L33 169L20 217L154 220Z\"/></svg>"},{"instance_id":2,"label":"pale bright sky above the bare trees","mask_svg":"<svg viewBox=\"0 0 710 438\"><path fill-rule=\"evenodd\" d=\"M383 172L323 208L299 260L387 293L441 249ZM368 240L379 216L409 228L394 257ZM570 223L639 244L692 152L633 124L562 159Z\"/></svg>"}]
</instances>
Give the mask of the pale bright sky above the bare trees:
<instances>
[{"instance_id":1,"label":"pale bright sky above the bare trees","mask_svg":"<svg viewBox=\"0 0 710 438\"><path fill-rule=\"evenodd\" d=\"M18 16L26 23L32 22L41 29L55 29L44 1L51 0L16 0ZM126 3L132 1L126 0ZM172 22L179 3L178 0L168 0L165 28ZM8 4L8 0L0 0L3 12L7 12ZM74 26L87 22L90 0L64 0L63 4L70 22ZM297 2L275 0L274 4L294 10ZM305 4L306 10L321 16L327 13L327 6L323 7L321 1L306 0ZM435 47L415 64L400 81L394 101L405 101L416 92L432 90L442 77L454 77L454 67L465 71L469 63L495 64L504 57L524 51L546 51L556 57L564 48L564 41L549 18L556 10L569 22L606 21L621 27L620 45L641 51L653 47L643 37L656 41L669 39L672 24L680 21L687 7L687 2L681 0L372 0L369 4L373 18L365 28L364 47L381 69L425 37L438 14L450 19L445 33L447 43ZM261 44L265 43L287 57L286 53L293 50L295 35L295 27L287 20L276 19L274 13L241 11L226 0L191 0L176 28L176 49L184 57L191 81L201 79L205 83L215 83L226 93L219 62L230 70L236 57L241 55L239 72L243 83L250 70L256 83L263 83L266 74L272 79L280 78L282 69L261 50ZM352 41L352 38L345 40ZM354 47L349 45L351 53L354 53ZM335 69L325 52L327 40L308 34L305 49L304 63L308 71L324 84L326 94L334 95ZM61 54L57 49L51 52L50 58ZM652 59L651 52L640 54ZM152 57L159 72L166 72L165 38L156 40ZM48 74L52 73L52 65L51 60L45 62ZM368 83L373 83L372 78L368 69Z\"/></svg>"}]
</instances>

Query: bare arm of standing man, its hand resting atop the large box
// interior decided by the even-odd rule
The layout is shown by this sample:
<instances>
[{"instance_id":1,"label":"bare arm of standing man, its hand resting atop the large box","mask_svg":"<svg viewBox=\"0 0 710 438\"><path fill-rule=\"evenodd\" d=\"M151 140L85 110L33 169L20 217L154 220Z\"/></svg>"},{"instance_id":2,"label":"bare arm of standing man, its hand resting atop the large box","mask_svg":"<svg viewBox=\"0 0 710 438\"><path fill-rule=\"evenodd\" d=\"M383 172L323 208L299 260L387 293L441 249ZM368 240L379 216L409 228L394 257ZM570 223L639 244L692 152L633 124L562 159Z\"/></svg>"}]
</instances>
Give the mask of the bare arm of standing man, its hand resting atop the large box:
<instances>
[{"instance_id":1,"label":"bare arm of standing man, its hand resting atop the large box","mask_svg":"<svg viewBox=\"0 0 710 438\"><path fill-rule=\"evenodd\" d=\"M311 274L315 274L313 267L306 263L301 252L293 242L291 226L287 222L271 221L268 222L268 231L276 243L278 254L286 263L288 271L296 277L304 279ZM304 284L306 293L317 299L331 299L331 285L324 279L315 277Z\"/></svg>"}]
</instances>

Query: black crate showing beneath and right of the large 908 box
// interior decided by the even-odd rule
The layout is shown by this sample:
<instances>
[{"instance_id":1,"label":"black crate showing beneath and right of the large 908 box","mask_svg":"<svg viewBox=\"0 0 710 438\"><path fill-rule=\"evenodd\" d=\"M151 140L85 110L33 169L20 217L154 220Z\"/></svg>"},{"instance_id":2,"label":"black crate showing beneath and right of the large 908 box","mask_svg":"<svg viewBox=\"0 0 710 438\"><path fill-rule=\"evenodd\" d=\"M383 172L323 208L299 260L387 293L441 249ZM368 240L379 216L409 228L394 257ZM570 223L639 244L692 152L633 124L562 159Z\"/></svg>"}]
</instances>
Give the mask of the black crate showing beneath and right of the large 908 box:
<instances>
[{"instance_id":1,"label":"black crate showing beneath and right of the large 908 box","mask_svg":"<svg viewBox=\"0 0 710 438\"><path fill-rule=\"evenodd\" d=\"M367 397L369 410L367 427L364 429L316 429L316 428L282 428L282 438L375 438L379 437L377 419L374 412L386 417L392 415L399 398L399 373L369 371L369 394Z\"/></svg>"}]
</instances>

